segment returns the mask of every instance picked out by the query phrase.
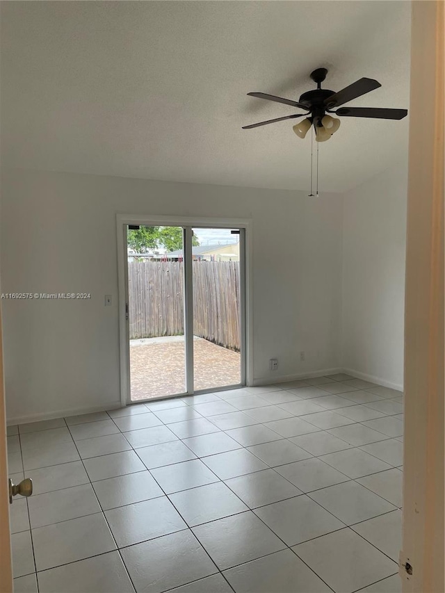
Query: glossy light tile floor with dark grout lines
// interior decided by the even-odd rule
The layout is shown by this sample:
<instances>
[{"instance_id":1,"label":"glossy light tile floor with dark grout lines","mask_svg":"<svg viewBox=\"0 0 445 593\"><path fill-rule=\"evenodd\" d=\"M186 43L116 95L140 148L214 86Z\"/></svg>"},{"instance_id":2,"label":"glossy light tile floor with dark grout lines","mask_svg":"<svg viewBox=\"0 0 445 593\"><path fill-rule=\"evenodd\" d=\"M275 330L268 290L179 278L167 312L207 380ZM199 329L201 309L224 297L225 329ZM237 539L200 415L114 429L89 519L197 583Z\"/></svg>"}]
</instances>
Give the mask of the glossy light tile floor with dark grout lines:
<instances>
[{"instance_id":1,"label":"glossy light tile floor with dark grout lines","mask_svg":"<svg viewBox=\"0 0 445 593\"><path fill-rule=\"evenodd\" d=\"M8 427L15 592L398 593L402 402L341 373Z\"/></svg>"}]
</instances>

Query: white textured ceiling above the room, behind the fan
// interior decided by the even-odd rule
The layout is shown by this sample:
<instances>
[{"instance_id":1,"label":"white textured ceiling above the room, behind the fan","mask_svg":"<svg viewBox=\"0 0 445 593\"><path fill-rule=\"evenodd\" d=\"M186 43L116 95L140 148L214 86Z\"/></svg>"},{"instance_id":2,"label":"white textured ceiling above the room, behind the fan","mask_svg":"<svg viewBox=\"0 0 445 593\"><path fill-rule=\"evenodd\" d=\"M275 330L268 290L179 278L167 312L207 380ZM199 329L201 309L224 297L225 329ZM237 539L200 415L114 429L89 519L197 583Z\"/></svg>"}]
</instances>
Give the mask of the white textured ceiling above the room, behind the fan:
<instances>
[{"instance_id":1,"label":"white textured ceiling above the room, behind the fan","mask_svg":"<svg viewBox=\"0 0 445 593\"><path fill-rule=\"evenodd\" d=\"M6 166L169 181L307 189L311 140L291 99L362 76L350 106L409 107L407 1L1 2ZM320 187L343 191L406 149L401 121L343 118L320 145Z\"/></svg>"}]
</instances>

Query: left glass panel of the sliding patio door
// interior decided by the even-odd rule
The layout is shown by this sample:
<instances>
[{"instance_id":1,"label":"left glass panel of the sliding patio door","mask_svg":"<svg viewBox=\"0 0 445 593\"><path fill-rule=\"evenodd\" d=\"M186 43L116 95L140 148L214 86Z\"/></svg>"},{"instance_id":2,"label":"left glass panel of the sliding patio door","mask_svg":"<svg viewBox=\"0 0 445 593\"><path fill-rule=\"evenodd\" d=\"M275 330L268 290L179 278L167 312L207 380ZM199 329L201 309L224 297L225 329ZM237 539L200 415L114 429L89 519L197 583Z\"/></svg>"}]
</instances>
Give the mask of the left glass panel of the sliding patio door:
<instances>
[{"instance_id":1,"label":"left glass panel of the sliding patio door","mask_svg":"<svg viewBox=\"0 0 445 593\"><path fill-rule=\"evenodd\" d=\"M169 258L158 247L167 234ZM133 225L127 261L131 401L186 393L183 229Z\"/></svg>"}]
</instances>

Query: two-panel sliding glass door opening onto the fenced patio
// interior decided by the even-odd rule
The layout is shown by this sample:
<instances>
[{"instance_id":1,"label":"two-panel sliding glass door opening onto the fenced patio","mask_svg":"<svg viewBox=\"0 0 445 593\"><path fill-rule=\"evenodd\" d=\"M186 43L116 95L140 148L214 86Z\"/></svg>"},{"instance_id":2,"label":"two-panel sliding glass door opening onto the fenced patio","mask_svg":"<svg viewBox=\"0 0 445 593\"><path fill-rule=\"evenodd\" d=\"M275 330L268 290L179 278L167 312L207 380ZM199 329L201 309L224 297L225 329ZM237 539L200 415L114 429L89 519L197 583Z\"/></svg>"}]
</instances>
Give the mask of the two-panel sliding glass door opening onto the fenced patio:
<instances>
[{"instance_id":1,"label":"two-panel sliding glass door opening onto the fenced patio","mask_svg":"<svg viewBox=\"0 0 445 593\"><path fill-rule=\"evenodd\" d=\"M245 384L244 229L125 230L129 401Z\"/></svg>"}]
</instances>

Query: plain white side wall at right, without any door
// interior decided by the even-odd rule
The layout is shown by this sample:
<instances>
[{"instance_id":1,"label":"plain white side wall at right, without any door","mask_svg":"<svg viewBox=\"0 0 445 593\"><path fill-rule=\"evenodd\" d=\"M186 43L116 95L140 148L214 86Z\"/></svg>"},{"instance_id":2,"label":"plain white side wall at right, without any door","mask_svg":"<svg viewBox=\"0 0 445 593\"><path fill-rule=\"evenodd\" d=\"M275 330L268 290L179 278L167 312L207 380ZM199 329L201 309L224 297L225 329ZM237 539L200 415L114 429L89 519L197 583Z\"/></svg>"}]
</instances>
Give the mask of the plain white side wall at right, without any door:
<instances>
[{"instance_id":1,"label":"plain white side wall at right, without any door","mask_svg":"<svg viewBox=\"0 0 445 593\"><path fill-rule=\"evenodd\" d=\"M403 386L407 157L344 195L343 368Z\"/></svg>"}]
</instances>

